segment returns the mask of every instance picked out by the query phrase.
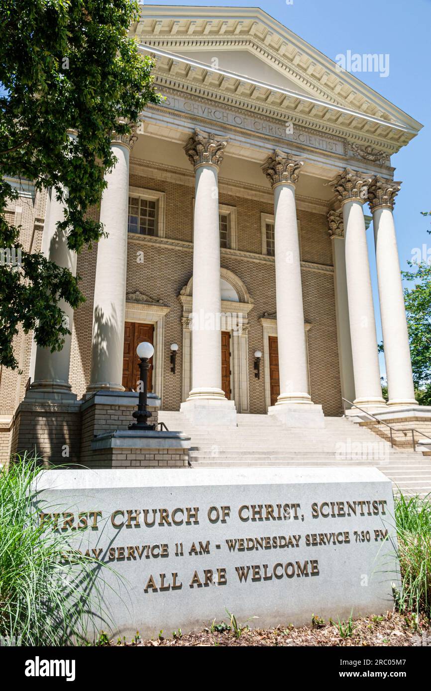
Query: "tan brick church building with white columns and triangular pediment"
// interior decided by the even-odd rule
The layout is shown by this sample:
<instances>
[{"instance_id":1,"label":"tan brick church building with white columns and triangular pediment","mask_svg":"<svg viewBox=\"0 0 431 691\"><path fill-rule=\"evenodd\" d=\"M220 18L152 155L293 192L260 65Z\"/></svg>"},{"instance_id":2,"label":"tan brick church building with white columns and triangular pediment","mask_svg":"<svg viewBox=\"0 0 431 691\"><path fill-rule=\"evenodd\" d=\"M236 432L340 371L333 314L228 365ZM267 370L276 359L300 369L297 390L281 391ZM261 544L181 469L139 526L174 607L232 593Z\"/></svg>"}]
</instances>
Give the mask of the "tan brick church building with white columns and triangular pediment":
<instances>
[{"instance_id":1,"label":"tan brick church building with white columns and triangular pediment","mask_svg":"<svg viewBox=\"0 0 431 691\"><path fill-rule=\"evenodd\" d=\"M415 413L391 157L421 124L258 8L145 5L130 33L165 100L113 137L91 212L107 236L76 256L55 196L16 182L22 243L79 274L86 302L64 305L61 352L17 337L19 372L0 371L1 460L35 444L84 459L101 401L111 428L129 424L142 341L154 409L190 424Z\"/></svg>"}]
</instances>

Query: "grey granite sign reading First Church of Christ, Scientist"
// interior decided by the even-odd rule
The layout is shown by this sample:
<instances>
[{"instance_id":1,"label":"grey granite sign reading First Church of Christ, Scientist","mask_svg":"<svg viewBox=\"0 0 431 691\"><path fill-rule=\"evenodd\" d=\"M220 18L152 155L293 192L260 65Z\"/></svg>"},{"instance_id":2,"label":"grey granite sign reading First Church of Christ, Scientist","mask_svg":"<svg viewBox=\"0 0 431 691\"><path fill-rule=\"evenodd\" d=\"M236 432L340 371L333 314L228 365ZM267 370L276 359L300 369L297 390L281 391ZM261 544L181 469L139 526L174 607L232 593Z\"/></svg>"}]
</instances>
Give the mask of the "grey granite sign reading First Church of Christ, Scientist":
<instances>
[{"instance_id":1,"label":"grey granite sign reading First Church of Christ, Scientist","mask_svg":"<svg viewBox=\"0 0 431 691\"><path fill-rule=\"evenodd\" d=\"M120 635L226 610L271 626L392 607L392 484L376 468L60 470L37 489L46 529L111 566L103 608Z\"/></svg>"}]
</instances>

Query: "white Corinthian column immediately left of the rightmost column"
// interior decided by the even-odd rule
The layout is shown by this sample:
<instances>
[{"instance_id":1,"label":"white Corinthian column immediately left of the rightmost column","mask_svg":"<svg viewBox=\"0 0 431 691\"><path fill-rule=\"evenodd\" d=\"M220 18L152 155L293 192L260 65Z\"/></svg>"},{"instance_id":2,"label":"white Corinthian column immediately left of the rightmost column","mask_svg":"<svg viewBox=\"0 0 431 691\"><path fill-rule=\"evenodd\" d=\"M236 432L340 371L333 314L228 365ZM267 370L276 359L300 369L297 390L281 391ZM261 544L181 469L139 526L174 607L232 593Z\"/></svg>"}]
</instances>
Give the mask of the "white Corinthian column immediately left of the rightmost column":
<instances>
[{"instance_id":1,"label":"white Corinthian column immediately left of the rightmost column","mask_svg":"<svg viewBox=\"0 0 431 691\"><path fill-rule=\"evenodd\" d=\"M376 321L363 214L369 182L371 178L345 169L331 185L342 204L345 228L347 299L356 392L354 404L366 410L383 410L385 401L380 385Z\"/></svg>"}]
</instances>

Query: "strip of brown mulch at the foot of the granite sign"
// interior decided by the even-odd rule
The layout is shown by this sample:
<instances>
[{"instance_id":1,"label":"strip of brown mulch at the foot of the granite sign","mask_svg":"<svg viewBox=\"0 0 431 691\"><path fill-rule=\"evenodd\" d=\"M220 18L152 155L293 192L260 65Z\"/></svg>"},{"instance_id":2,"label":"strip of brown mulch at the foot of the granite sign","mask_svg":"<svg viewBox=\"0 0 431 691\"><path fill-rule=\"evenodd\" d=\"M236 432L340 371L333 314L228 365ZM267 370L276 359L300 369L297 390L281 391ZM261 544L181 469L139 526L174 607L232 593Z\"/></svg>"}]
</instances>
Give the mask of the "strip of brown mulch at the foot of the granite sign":
<instances>
[{"instance_id":1,"label":"strip of brown mulch at the foot of the granite sign","mask_svg":"<svg viewBox=\"0 0 431 691\"><path fill-rule=\"evenodd\" d=\"M346 623L344 623L346 625ZM222 629L223 625L219 625ZM341 636L338 626L334 623L323 623L315 619L313 626L286 628L279 626L275 629L245 629L239 638L232 630L211 630L205 627L202 631L173 636L172 633L162 632L159 638L144 641L137 636L131 643L111 641L110 645L149 646L157 647L169 645L200 645L208 646L273 646L273 645L322 645L322 646L391 646L391 645L423 645L425 636L431 644L430 622L417 619L412 614L401 615L387 612L385 616L368 616L353 621L351 634ZM166 637L165 637L166 636ZM426 638L425 638L426 640Z\"/></svg>"}]
</instances>

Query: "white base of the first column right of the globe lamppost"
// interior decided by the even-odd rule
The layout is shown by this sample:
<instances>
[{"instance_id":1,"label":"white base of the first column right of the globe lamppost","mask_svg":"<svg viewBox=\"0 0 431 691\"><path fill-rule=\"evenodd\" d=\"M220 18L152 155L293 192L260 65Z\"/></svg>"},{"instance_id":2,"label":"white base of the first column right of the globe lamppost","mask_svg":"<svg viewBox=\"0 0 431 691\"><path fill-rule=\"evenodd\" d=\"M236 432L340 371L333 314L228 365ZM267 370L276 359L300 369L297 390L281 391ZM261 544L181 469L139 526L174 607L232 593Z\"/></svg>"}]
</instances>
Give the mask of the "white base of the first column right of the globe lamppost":
<instances>
[{"instance_id":1,"label":"white base of the first column right of the globe lamppost","mask_svg":"<svg viewBox=\"0 0 431 691\"><path fill-rule=\"evenodd\" d=\"M220 389L214 389L219 391ZM190 392L192 393L192 392ZM222 392L223 393L223 392ZM194 425L205 427L236 427L237 409L235 401L223 397L188 397L180 406L180 411Z\"/></svg>"}]
</instances>

